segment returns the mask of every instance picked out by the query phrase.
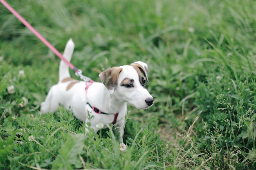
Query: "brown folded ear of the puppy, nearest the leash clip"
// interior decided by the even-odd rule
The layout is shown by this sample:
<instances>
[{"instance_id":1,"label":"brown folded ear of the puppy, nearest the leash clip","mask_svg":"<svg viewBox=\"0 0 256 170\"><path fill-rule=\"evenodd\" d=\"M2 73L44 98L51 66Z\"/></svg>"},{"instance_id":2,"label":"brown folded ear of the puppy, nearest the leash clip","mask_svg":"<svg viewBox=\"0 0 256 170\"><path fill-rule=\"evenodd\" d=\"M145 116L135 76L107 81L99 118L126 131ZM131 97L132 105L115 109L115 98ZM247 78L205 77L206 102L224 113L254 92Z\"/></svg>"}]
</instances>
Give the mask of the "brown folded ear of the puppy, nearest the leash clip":
<instances>
[{"instance_id":1,"label":"brown folded ear of the puppy, nearest the leash clip","mask_svg":"<svg viewBox=\"0 0 256 170\"><path fill-rule=\"evenodd\" d=\"M106 86L110 94L115 92L119 73L122 70L123 68L120 67L112 67L99 74L101 82Z\"/></svg>"}]
</instances>

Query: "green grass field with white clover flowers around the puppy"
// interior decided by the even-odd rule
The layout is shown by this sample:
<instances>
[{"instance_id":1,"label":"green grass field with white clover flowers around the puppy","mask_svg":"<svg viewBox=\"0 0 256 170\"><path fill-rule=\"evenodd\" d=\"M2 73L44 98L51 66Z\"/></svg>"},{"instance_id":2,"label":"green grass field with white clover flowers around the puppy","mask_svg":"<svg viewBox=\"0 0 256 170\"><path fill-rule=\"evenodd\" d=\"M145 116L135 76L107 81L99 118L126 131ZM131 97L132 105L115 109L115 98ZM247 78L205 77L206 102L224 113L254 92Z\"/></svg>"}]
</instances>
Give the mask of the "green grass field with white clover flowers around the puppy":
<instances>
[{"instance_id":1,"label":"green grass field with white clover flowers around the puppy","mask_svg":"<svg viewBox=\"0 0 256 170\"><path fill-rule=\"evenodd\" d=\"M112 126L85 140L72 112L40 116L60 59L0 4L0 170L256 169L256 1L7 2L95 81L146 62L155 104L128 107L126 151Z\"/></svg>"}]
</instances>

